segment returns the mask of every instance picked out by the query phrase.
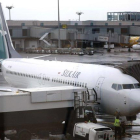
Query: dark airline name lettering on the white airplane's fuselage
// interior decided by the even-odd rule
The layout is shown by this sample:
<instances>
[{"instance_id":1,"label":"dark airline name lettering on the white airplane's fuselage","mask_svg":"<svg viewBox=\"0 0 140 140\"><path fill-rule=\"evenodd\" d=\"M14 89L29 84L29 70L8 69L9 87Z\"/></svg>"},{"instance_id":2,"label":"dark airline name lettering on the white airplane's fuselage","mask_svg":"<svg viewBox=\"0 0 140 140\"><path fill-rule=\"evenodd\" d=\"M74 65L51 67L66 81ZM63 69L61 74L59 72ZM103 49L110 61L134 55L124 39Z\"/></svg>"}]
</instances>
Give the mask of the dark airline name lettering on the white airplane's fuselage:
<instances>
[{"instance_id":1,"label":"dark airline name lettering on the white airplane's fuselage","mask_svg":"<svg viewBox=\"0 0 140 140\"><path fill-rule=\"evenodd\" d=\"M70 78L78 78L81 72L78 71L69 71L65 70L61 76L70 77Z\"/></svg>"}]
</instances>

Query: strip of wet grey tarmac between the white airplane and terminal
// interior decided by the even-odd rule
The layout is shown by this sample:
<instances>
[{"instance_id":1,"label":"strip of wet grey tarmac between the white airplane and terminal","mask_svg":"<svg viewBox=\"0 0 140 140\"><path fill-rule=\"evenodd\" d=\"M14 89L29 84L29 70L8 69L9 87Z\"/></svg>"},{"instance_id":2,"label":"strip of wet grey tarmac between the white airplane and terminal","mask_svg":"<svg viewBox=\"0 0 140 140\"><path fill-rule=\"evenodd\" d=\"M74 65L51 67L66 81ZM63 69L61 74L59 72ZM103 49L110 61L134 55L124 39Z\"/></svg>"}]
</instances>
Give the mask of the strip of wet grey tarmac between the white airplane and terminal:
<instances>
[{"instance_id":1,"label":"strip of wet grey tarmac between the white airplane and terminal","mask_svg":"<svg viewBox=\"0 0 140 140\"><path fill-rule=\"evenodd\" d=\"M21 53L24 58L33 58L40 55L48 54L29 54ZM56 61L68 61L68 62L84 62L84 63L102 63L102 62L122 62L128 60L140 59L140 50L128 52L128 48L116 48L112 49L110 53L105 49L95 49L94 55L59 55L51 54L45 58L40 58L44 60L56 60Z\"/></svg>"}]
</instances>

